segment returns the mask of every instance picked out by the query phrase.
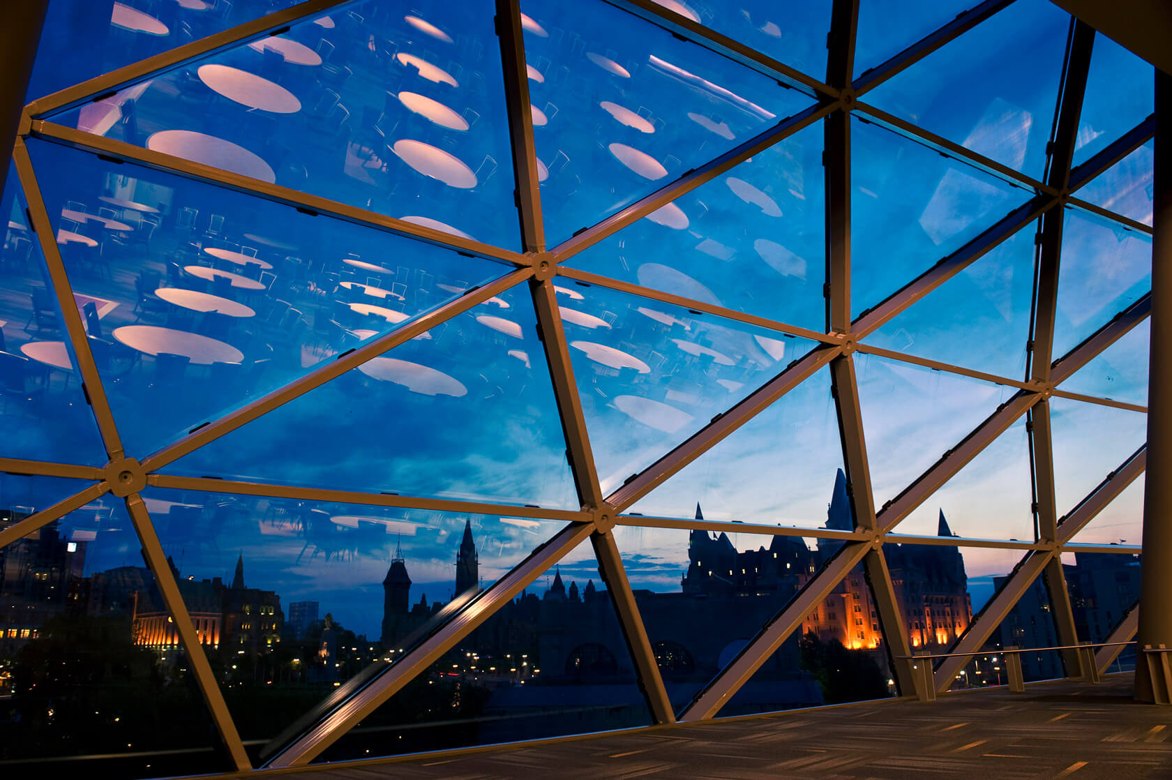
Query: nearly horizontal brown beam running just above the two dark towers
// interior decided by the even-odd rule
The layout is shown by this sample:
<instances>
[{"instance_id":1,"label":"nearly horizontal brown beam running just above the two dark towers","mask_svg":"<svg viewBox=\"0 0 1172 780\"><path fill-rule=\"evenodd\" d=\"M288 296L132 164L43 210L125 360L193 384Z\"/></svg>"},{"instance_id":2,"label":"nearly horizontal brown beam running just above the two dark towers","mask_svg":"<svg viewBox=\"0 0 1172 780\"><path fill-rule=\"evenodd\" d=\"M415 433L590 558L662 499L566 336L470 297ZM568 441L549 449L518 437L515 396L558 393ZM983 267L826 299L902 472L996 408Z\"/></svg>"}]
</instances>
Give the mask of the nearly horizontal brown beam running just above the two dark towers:
<instances>
[{"instance_id":1,"label":"nearly horizontal brown beam running just above the two dark towers","mask_svg":"<svg viewBox=\"0 0 1172 780\"><path fill-rule=\"evenodd\" d=\"M404 509L427 509L429 511L448 511L464 515L500 515L502 517L533 517L539 520L558 520L566 522L585 522L592 517L590 513L571 511L566 509L515 507L511 504L485 503L481 501L459 501L455 498L424 498L421 496L403 496L390 493L362 493L359 490L304 488L289 484L220 480L206 476L149 474L146 476L146 484L154 488L165 488L171 490L199 490L203 493L224 493L240 496L271 496L277 498L294 498L297 501L350 503L367 507L401 507Z\"/></svg>"}]
</instances>

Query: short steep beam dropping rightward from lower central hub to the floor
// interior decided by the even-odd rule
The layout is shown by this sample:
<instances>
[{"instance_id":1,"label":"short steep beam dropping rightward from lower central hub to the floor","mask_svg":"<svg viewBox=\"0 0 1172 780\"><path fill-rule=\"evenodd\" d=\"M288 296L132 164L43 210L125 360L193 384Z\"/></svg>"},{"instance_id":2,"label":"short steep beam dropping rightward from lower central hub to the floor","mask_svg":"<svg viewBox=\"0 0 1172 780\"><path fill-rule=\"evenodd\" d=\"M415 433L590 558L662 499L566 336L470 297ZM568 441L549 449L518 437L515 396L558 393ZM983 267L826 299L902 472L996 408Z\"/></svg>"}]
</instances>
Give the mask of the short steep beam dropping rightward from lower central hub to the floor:
<instances>
[{"instance_id":1,"label":"short steep beam dropping rightward from lower central hub to the floor","mask_svg":"<svg viewBox=\"0 0 1172 780\"><path fill-rule=\"evenodd\" d=\"M639 615L639 604L635 603L635 594L631 590L631 581L622 565L622 556L614 542L614 534L609 530L597 530L591 534L590 540L594 545L599 575L611 595L611 603L619 617L627 650L631 651L631 659L635 664L639 687L647 698L652 717L656 724L673 724L675 713L672 711L672 700L668 699L667 689L663 687L659 663L655 660L650 639L647 638L643 619Z\"/></svg>"}]
</instances>

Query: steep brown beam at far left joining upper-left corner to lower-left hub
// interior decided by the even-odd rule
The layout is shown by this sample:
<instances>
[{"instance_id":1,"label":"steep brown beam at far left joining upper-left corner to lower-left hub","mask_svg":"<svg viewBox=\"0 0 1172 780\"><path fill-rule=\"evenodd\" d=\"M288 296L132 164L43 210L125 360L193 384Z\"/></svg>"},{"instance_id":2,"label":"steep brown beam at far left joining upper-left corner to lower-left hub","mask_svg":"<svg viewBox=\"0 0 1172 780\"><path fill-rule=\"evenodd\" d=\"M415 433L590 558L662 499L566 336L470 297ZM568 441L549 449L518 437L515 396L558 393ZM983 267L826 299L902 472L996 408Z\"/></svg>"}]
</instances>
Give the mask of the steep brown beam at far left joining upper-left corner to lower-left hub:
<instances>
[{"instance_id":1,"label":"steep brown beam at far left joining upper-left corner to lower-left hub","mask_svg":"<svg viewBox=\"0 0 1172 780\"><path fill-rule=\"evenodd\" d=\"M36 175L33 172L33 163L28 158L28 149L23 138L16 138L13 148L12 161L16 167L16 176L20 178L20 186L25 194L25 205L28 209L29 228L36 233L36 240L45 258L45 266L53 283L53 292L57 299L57 308L66 328L67 340L73 347L74 360L77 362L77 373L81 375L82 392L97 421L98 433L102 435L102 443L105 446L105 454L111 461L120 460L125 455L122 447L122 438L114 422L114 413L110 412L110 402L105 398L105 388L102 386L102 378L97 373L97 364L94 362L94 354L89 348L89 338L86 335L86 323L82 321L81 312L77 311L77 301L74 299L73 285L66 273L64 263L61 260L61 252L57 249L57 236L53 230L53 223L45 210L45 201L41 198L41 188L36 183Z\"/></svg>"}]
</instances>

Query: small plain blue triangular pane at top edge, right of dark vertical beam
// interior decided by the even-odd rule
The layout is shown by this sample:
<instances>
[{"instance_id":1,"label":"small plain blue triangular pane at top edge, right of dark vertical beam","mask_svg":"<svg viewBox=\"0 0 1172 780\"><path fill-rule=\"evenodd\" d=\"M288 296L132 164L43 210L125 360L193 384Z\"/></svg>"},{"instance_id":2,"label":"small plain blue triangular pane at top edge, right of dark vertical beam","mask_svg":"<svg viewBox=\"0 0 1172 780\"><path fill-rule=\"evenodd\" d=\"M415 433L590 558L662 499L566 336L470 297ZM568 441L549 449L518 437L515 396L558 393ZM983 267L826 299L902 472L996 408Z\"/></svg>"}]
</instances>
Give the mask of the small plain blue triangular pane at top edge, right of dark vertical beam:
<instances>
[{"instance_id":1,"label":"small plain blue triangular pane at top edge, right of dark vertical beam","mask_svg":"<svg viewBox=\"0 0 1172 780\"><path fill-rule=\"evenodd\" d=\"M968 7L968 0L859 0L854 75L886 62Z\"/></svg>"}]
</instances>

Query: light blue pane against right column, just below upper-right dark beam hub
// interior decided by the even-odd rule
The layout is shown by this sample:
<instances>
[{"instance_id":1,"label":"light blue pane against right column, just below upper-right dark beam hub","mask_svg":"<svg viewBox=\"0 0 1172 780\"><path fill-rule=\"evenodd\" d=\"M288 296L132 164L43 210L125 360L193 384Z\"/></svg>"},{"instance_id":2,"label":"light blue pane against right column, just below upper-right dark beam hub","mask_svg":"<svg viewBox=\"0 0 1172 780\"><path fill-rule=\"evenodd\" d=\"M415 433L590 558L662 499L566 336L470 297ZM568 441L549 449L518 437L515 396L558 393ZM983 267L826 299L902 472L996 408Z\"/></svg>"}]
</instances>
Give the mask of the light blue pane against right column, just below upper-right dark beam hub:
<instances>
[{"instance_id":1,"label":"light blue pane against right column, just below upper-right dark beam hub","mask_svg":"<svg viewBox=\"0 0 1172 780\"><path fill-rule=\"evenodd\" d=\"M1062 230L1054 357L1067 354L1151 289L1150 236L1068 208Z\"/></svg>"}]
</instances>

